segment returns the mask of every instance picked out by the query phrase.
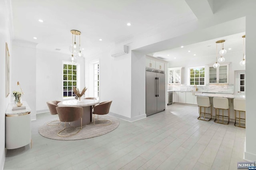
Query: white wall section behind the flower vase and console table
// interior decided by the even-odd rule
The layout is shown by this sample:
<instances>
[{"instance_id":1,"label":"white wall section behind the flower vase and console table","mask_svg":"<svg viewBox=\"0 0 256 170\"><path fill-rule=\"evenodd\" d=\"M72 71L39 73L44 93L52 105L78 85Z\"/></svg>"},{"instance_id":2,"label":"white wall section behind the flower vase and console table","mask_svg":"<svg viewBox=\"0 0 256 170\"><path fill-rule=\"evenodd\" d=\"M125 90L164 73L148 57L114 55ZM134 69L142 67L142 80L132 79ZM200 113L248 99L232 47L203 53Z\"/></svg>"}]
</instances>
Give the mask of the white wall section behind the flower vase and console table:
<instances>
[{"instance_id":1,"label":"white wall section behind the flower vase and console table","mask_svg":"<svg viewBox=\"0 0 256 170\"><path fill-rule=\"evenodd\" d=\"M12 42L12 78L10 90L20 91L23 94L22 101L26 101L31 109L31 119L36 119L36 43L14 40Z\"/></svg>"}]
</instances>

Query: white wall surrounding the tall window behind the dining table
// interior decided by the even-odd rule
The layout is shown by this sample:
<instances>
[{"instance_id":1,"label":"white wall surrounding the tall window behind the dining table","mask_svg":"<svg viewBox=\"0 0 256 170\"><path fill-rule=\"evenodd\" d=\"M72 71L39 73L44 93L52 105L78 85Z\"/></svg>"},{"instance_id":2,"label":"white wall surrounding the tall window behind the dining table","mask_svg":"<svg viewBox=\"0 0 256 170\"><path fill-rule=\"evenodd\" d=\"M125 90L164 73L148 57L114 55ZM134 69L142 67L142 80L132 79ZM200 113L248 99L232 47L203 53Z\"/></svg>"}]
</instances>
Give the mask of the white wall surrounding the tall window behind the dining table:
<instances>
[{"instance_id":1,"label":"white wall surrounding the tall window behind the dining table","mask_svg":"<svg viewBox=\"0 0 256 170\"><path fill-rule=\"evenodd\" d=\"M68 61L70 55L50 51L36 51L36 111L48 111L47 101L62 101L62 61ZM80 84L84 88L84 58L78 58ZM23 88L23 87L22 87Z\"/></svg>"}]
</instances>

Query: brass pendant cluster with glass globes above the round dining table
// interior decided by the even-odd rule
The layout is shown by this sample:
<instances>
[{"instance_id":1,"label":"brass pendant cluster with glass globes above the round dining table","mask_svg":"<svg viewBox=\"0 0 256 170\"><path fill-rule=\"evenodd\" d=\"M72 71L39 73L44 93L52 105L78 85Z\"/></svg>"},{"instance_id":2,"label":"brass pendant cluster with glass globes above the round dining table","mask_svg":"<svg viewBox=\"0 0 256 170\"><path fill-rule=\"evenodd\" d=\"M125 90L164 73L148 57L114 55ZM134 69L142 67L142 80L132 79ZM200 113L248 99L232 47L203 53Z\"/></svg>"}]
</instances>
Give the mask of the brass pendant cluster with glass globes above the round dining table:
<instances>
[{"instance_id":1,"label":"brass pendant cluster with glass globes above the round dining table","mask_svg":"<svg viewBox=\"0 0 256 170\"><path fill-rule=\"evenodd\" d=\"M72 53L71 57L69 57L70 63L76 63L78 57L83 57L83 54L81 53L81 47L80 47L80 35L81 32L78 30L72 29L70 31L72 33L72 44L69 47L70 53ZM76 35L79 35L79 45L76 42ZM73 41L74 40L74 41Z\"/></svg>"}]
</instances>

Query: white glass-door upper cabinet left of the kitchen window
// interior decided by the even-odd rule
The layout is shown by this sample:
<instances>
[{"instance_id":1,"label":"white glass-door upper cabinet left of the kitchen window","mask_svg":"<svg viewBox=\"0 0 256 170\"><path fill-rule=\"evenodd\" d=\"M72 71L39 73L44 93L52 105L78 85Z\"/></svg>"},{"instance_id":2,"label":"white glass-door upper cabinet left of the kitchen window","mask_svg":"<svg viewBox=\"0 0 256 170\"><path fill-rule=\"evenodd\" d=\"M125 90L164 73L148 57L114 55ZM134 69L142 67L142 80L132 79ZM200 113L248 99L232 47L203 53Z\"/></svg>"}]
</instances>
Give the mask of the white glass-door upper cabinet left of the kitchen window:
<instances>
[{"instance_id":1,"label":"white glass-door upper cabinet left of the kitchen window","mask_svg":"<svg viewBox=\"0 0 256 170\"><path fill-rule=\"evenodd\" d=\"M181 84L182 67L168 68L168 83Z\"/></svg>"}]
</instances>

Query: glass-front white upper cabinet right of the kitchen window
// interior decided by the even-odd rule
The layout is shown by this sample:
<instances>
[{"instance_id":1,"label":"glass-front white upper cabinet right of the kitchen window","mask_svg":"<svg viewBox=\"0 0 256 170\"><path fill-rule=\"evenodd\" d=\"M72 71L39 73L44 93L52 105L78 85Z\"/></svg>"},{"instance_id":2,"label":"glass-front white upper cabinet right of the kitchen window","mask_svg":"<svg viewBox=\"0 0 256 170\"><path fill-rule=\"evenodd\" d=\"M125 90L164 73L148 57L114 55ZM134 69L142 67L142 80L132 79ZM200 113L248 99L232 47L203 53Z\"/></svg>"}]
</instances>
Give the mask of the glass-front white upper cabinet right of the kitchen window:
<instances>
[{"instance_id":1,"label":"glass-front white upper cabinet right of the kitchen window","mask_svg":"<svg viewBox=\"0 0 256 170\"><path fill-rule=\"evenodd\" d=\"M209 66L209 83L228 84L228 65L222 64L219 68Z\"/></svg>"}]
</instances>

